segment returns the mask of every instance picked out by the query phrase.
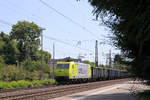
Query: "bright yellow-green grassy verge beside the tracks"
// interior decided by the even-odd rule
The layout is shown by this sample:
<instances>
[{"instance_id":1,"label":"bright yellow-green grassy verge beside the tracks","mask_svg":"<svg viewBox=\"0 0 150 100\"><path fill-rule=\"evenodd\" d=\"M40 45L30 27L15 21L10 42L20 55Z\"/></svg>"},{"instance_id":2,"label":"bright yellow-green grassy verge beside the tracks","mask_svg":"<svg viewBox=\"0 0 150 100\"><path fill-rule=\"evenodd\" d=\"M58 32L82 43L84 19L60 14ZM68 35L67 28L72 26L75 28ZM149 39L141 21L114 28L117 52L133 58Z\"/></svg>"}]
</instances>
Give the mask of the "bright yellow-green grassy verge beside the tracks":
<instances>
[{"instance_id":1,"label":"bright yellow-green grassy verge beside the tracks","mask_svg":"<svg viewBox=\"0 0 150 100\"><path fill-rule=\"evenodd\" d=\"M16 88L29 88L29 87L37 87L37 86L48 86L55 85L56 81L53 79L47 80L34 80L34 81L12 81L12 82L0 82L0 90L6 89L16 89Z\"/></svg>"}]
</instances>

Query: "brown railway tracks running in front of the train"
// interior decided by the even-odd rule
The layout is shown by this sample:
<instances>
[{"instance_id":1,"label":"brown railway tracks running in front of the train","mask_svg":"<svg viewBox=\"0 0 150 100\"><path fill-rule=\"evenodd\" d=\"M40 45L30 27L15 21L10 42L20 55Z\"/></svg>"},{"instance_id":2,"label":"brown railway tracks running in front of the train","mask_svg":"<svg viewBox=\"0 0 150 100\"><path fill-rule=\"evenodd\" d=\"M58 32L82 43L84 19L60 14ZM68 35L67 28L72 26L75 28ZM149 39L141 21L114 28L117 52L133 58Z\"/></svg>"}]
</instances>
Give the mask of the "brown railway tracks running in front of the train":
<instances>
[{"instance_id":1,"label":"brown railway tracks running in front of the train","mask_svg":"<svg viewBox=\"0 0 150 100\"><path fill-rule=\"evenodd\" d=\"M85 84L45 86L26 89L6 90L0 92L0 100L47 100L76 92L87 91L103 86L118 84L129 79L118 79Z\"/></svg>"}]
</instances>

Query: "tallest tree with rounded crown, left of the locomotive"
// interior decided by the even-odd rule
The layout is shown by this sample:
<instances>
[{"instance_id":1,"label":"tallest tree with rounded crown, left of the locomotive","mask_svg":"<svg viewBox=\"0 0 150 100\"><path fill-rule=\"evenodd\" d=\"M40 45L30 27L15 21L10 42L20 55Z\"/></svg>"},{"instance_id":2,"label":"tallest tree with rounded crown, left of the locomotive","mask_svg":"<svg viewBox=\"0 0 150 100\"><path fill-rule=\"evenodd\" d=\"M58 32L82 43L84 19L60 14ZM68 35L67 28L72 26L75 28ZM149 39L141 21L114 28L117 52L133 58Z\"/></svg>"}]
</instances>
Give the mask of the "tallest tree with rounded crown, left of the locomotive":
<instances>
[{"instance_id":1,"label":"tallest tree with rounded crown, left of the locomotive","mask_svg":"<svg viewBox=\"0 0 150 100\"><path fill-rule=\"evenodd\" d=\"M10 36L18 43L19 60L35 59L36 51L40 46L41 28L33 22L19 21L12 26Z\"/></svg>"}]
</instances>

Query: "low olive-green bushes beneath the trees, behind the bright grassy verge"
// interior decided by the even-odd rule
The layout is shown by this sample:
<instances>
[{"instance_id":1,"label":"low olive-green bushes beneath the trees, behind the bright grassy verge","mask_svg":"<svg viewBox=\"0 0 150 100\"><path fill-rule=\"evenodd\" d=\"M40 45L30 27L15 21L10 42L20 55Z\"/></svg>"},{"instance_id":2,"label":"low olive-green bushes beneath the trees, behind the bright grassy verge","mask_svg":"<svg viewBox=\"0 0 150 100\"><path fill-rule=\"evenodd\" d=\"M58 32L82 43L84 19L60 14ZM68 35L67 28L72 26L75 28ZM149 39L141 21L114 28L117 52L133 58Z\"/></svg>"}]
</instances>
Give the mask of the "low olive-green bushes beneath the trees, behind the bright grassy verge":
<instances>
[{"instance_id":1,"label":"low olive-green bushes beneath the trees, behind the bright grassy verge","mask_svg":"<svg viewBox=\"0 0 150 100\"><path fill-rule=\"evenodd\" d=\"M47 64L44 64L42 79L48 79L50 74L49 72L50 72L49 66ZM15 65L5 65L5 67L0 68L0 80L2 81L39 80L40 73L41 73L40 67L37 67L36 64L29 66L29 69L26 68L26 66L20 66L18 68Z\"/></svg>"}]
</instances>

